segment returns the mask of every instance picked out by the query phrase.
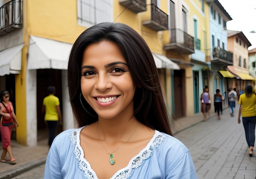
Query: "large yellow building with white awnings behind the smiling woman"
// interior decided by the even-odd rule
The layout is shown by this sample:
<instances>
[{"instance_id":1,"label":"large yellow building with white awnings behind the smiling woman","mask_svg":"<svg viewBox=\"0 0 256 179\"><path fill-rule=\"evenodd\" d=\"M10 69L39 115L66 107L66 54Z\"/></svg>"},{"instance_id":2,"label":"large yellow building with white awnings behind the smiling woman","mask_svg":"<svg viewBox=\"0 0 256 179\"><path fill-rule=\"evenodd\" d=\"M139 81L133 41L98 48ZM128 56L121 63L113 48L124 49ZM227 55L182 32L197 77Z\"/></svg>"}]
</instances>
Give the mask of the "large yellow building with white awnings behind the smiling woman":
<instances>
[{"instance_id":1,"label":"large yellow building with white awnings behind the smiling woman","mask_svg":"<svg viewBox=\"0 0 256 179\"><path fill-rule=\"evenodd\" d=\"M151 0L0 1L4 9L16 7L13 11L17 21L22 20L19 26L11 22L10 29L7 25L0 29L0 57L2 54L8 57L7 65L0 59L0 88L14 92L20 124L16 140L23 145L36 145L38 131L46 127L41 107L48 85L56 87L55 95L60 98L63 128L58 132L74 127L67 90L68 56L76 38L99 22L122 22L141 34L153 53L171 105L171 72L180 67L168 59L163 50L164 35L170 32L169 5L167 0L161 3ZM10 15L5 12L4 17ZM13 63L20 65L16 67ZM1 71L3 67L5 70Z\"/></svg>"}]
</instances>

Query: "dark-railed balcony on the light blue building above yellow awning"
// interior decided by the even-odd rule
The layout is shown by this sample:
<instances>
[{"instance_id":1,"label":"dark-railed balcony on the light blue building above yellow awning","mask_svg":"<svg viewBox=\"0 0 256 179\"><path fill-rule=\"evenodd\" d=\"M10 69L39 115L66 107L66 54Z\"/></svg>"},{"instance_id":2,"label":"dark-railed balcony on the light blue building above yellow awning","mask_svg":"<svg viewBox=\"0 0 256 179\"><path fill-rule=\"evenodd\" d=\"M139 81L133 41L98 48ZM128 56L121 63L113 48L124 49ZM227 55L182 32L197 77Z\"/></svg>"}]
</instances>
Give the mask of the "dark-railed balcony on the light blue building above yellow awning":
<instances>
[{"instance_id":1,"label":"dark-railed balcony on the light blue building above yellow awning","mask_svg":"<svg viewBox=\"0 0 256 179\"><path fill-rule=\"evenodd\" d=\"M218 63L222 65L233 65L233 53L217 47L213 49L213 59L211 63Z\"/></svg>"}]
</instances>

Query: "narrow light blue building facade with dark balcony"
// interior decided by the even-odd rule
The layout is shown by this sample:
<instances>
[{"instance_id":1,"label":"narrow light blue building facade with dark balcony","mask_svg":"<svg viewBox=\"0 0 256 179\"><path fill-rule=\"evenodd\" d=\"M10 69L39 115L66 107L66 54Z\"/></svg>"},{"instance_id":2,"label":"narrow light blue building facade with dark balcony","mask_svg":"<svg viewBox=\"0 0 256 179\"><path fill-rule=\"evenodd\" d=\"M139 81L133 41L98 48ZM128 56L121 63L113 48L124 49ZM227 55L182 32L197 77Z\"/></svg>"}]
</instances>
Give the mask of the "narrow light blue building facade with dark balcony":
<instances>
[{"instance_id":1,"label":"narrow light blue building facade with dark balcony","mask_svg":"<svg viewBox=\"0 0 256 179\"><path fill-rule=\"evenodd\" d=\"M233 64L233 54L227 50L227 22L232 20L227 11L218 0L213 0L209 6L210 10L210 57L211 57L211 96L216 94L216 89L225 96L222 103L223 109L228 107L227 92L229 77L223 77L221 72L227 69L227 65Z\"/></svg>"}]
</instances>

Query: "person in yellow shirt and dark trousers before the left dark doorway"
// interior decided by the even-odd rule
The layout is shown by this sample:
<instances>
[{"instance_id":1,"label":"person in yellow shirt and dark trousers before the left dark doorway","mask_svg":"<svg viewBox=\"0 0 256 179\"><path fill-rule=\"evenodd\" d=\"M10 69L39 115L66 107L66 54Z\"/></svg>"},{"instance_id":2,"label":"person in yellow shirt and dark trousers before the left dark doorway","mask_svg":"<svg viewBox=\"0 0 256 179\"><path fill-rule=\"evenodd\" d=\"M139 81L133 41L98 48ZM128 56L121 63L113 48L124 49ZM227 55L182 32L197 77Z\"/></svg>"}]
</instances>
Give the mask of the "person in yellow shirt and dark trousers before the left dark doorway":
<instances>
[{"instance_id":1,"label":"person in yellow shirt and dark trousers before the left dark doorway","mask_svg":"<svg viewBox=\"0 0 256 179\"><path fill-rule=\"evenodd\" d=\"M60 101L58 97L54 96L55 87L48 86L47 93L49 94L43 99L42 114L45 114L45 122L49 130L49 146L52 145L52 142L56 136L56 131L58 127L58 122L62 125L62 116L60 109Z\"/></svg>"}]
</instances>

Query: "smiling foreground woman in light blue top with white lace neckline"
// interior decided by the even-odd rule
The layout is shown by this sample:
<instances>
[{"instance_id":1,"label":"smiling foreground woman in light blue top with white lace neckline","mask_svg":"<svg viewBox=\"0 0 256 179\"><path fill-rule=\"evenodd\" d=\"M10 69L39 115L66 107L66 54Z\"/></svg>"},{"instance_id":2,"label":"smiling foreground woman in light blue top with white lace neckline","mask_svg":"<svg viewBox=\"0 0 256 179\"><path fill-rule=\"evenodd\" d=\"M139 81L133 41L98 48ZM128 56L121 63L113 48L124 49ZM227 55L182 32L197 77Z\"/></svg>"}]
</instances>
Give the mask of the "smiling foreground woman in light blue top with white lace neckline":
<instances>
[{"instance_id":1,"label":"smiling foreground woman in light blue top with white lace neckline","mask_svg":"<svg viewBox=\"0 0 256 179\"><path fill-rule=\"evenodd\" d=\"M72 47L67 76L79 128L55 138L45 178L197 178L189 150L172 136L152 53L134 29L88 28Z\"/></svg>"}]
</instances>

